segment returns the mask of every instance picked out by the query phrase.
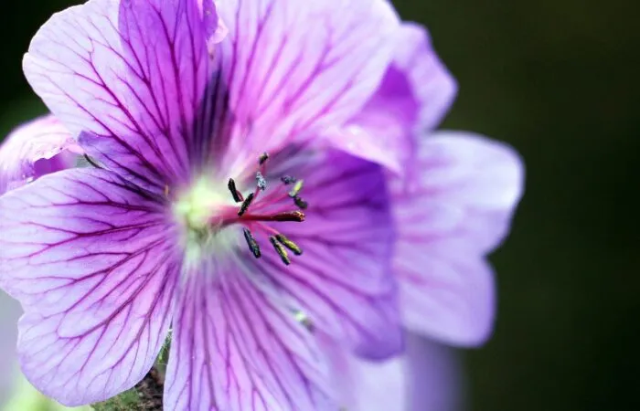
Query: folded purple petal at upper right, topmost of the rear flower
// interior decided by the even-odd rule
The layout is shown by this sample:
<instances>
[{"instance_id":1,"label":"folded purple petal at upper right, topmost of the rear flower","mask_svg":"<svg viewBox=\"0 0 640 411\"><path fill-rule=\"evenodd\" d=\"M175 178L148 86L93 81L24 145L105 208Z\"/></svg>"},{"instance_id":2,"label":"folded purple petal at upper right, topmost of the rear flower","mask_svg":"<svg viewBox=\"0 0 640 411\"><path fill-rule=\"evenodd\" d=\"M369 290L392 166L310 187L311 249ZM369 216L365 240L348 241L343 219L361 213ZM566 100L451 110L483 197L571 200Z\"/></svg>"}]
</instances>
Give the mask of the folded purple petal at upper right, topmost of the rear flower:
<instances>
[{"instance_id":1,"label":"folded purple petal at upper right, topmost of the rear flower","mask_svg":"<svg viewBox=\"0 0 640 411\"><path fill-rule=\"evenodd\" d=\"M349 153L402 173L414 151L414 132L431 131L455 97L455 80L432 47L426 29L404 24L395 37L393 63L377 93L336 144Z\"/></svg>"}]
</instances>

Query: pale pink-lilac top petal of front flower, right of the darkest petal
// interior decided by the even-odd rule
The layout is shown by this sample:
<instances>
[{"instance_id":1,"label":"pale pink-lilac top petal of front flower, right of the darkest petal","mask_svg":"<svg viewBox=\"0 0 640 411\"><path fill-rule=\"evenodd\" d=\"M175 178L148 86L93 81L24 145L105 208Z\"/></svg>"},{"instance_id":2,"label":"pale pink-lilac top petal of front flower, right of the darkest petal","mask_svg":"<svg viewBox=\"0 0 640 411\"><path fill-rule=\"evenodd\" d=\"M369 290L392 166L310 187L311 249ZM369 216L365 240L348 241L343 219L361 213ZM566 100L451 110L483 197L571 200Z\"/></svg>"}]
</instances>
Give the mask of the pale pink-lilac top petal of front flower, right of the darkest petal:
<instances>
[{"instance_id":1,"label":"pale pink-lilac top petal of front flower, right of the darkest petal","mask_svg":"<svg viewBox=\"0 0 640 411\"><path fill-rule=\"evenodd\" d=\"M232 115L213 150L228 148L225 170L354 116L378 87L399 26L379 0L234 0L219 13L229 36L217 50L213 112Z\"/></svg>"}]
</instances>

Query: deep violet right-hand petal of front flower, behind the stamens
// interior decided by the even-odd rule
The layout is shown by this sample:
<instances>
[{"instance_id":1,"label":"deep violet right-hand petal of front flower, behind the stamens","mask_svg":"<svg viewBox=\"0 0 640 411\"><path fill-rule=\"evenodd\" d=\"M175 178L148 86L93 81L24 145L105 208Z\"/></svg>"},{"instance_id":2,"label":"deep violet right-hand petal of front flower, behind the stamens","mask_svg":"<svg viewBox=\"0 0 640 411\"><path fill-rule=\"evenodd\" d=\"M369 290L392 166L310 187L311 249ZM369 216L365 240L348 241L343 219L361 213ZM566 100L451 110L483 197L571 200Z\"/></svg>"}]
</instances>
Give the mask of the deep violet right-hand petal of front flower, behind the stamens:
<instances>
[{"instance_id":1,"label":"deep violet right-hand petal of front flower, behind the stamens","mask_svg":"<svg viewBox=\"0 0 640 411\"><path fill-rule=\"evenodd\" d=\"M292 298L316 332L357 355L379 359L398 353L402 335L389 266L394 233L383 170L339 152L283 157L280 164L273 158L269 174L304 179L301 195L309 205L303 224L272 228L292 239L303 255L284 267L266 242L262 258L243 257L248 270L271 279Z\"/></svg>"}]
</instances>

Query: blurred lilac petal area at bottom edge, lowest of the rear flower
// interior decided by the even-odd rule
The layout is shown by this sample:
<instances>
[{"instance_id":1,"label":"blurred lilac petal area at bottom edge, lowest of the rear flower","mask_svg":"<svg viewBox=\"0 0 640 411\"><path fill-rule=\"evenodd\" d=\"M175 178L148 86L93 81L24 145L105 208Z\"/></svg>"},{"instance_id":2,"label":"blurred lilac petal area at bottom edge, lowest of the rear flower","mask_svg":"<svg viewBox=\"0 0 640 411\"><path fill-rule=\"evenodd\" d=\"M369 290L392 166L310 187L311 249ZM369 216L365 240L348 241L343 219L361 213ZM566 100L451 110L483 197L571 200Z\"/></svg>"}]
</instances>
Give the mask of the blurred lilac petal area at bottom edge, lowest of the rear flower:
<instances>
[{"instance_id":1,"label":"blurred lilac petal area at bottom edge, lowest of the rear flower","mask_svg":"<svg viewBox=\"0 0 640 411\"><path fill-rule=\"evenodd\" d=\"M461 365L450 347L409 334L406 353L385 363L332 354L334 381L349 411L462 409Z\"/></svg>"}]
</instances>

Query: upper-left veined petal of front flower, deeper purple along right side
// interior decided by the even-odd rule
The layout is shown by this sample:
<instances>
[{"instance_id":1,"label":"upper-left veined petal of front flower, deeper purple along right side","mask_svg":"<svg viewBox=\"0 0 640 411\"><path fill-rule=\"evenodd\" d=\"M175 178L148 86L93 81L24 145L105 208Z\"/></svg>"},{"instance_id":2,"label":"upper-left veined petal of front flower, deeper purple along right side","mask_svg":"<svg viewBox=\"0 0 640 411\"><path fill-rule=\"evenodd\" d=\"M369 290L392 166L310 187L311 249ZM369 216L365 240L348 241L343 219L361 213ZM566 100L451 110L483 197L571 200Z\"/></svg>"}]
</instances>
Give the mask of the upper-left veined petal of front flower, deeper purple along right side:
<instances>
[{"instance_id":1,"label":"upper-left veined petal of front flower, deeper purple along right side","mask_svg":"<svg viewBox=\"0 0 640 411\"><path fill-rule=\"evenodd\" d=\"M87 153L162 191L188 177L206 41L196 0L90 0L38 30L24 69Z\"/></svg>"}]
</instances>

